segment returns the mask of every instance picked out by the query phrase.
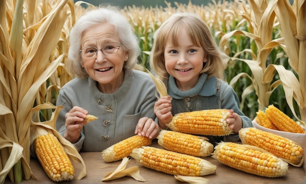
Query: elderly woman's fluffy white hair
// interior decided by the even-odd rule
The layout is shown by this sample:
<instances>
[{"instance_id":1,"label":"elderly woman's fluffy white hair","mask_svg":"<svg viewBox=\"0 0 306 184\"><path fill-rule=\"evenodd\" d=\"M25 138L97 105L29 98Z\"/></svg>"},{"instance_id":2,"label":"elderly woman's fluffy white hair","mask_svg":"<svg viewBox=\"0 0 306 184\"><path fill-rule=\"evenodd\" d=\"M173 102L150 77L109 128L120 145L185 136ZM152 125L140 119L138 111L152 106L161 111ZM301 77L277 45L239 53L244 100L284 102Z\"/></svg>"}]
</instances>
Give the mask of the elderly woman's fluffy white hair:
<instances>
[{"instance_id":1,"label":"elderly woman's fluffy white hair","mask_svg":"<svg viewBox=\"0 0 306 184\"><path fill-rule=\"evenodd\" d=\"M118 7L104 4L98 9L88 11L82 15L71 29L67 61L68 72L76 77L88 76L87 71L81 66L83 61L79 50L81 49L82 33L97 24L114 26L114 34L118 35L119 42L122 43L120 49L129 52L129 59L125 62L124 69L133 69L138 63L137 58L140 54L134 29Z\"/></svg>"}]
</instances>

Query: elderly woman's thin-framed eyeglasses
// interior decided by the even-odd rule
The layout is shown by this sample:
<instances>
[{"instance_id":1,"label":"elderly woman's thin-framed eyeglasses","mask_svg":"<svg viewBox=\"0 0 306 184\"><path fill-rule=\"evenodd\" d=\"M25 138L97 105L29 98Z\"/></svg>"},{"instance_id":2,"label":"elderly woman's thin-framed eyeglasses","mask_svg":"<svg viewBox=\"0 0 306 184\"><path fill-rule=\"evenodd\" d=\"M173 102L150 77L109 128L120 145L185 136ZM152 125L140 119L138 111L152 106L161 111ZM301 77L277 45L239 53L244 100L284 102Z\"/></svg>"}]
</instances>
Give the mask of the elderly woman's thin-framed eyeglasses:
<instances>
[{"instance_id":1,"label":"elderly woman's thin-framed eyeglasses","mask_svg":"<svg viewBox=\"0 0 306 184\"><path fill-rule=\"evenodd\" d=\"M98 49L94 46L87 46L79 50L79 52L85 58L92 58L97 55L98 50L101 50L101 52L105 55L115 54L118 52L121 45L122 44L118 44L117 42L109 42L104 44L102 48Z\"/></svg>"}]
</instances>

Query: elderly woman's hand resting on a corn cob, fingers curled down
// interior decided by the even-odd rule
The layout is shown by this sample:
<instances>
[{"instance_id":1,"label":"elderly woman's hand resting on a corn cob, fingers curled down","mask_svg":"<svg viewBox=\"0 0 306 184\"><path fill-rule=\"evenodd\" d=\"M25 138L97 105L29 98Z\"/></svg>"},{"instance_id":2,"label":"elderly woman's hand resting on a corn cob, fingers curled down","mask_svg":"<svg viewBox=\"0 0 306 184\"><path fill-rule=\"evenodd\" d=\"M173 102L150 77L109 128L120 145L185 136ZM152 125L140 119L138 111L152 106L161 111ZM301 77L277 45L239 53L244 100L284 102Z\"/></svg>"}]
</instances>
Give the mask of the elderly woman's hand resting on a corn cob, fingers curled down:
<instances>
[{"instance_id":1,"label":"elderly woman's hand resting on a corn cob, fingers curled down","mask_svg":"<svg viewBox=\"0 0 306 184\"><path fill-rule=\"evenodd\" d=\"M139 119L135 134L141 137L148 137L148 138L156 138L159 134L160 128L153 119L148 117L142 117Z\"/></svg>"}]
</instances>

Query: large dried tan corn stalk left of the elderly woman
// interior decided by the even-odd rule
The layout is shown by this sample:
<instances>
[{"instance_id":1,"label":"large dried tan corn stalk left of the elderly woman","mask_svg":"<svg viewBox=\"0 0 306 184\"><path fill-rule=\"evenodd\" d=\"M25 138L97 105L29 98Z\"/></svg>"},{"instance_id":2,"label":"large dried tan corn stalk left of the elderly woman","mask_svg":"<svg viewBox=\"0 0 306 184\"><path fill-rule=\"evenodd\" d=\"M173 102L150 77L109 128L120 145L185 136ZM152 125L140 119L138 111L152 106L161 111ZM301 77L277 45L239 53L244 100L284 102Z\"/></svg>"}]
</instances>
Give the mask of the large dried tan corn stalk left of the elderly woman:
<instances>
[{"instance_id":1,"label":"large dried tan corn stalk left of the elderly woman","mask_svg":"<svg viewBox=\"0 0 306 184\"><path fill-rule=\"evenodd\" d=\"M73 0L2 0L0 10L0 128L6 141L0 152L1 170L5 168L0 182L8 175L20 183L22 175L25 180L31 177L30 112L35 102L42 102L47 79L66 58L62 54L49 60L68 16L74 20L74 7ZM23 148L22 155L11 159L16 144ZM14 164L18 172L11 169Z\"/></svg>"}]
</instances>

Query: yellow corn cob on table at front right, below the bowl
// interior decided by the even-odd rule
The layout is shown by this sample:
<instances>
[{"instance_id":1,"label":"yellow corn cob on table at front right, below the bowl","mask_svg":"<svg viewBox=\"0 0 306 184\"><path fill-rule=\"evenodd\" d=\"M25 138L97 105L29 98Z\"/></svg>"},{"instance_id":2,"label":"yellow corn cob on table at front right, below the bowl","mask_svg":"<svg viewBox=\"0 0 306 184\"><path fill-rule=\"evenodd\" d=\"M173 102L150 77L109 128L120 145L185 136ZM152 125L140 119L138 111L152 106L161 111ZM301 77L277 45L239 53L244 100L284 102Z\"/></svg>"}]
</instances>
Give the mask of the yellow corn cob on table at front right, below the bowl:
<instances>
[{"instance_id":1,"label":"yellow corn cob on table at front right, below the bowl","mask_svg":"<svg viewBox=\"0 0 306 184\"><path fill-rule=\"evenodd\" d=\"M287 162L255 146L221 142L213 155L225 165L262 177L282 177L288 172Z\"/></svg>"}]
</instances>

